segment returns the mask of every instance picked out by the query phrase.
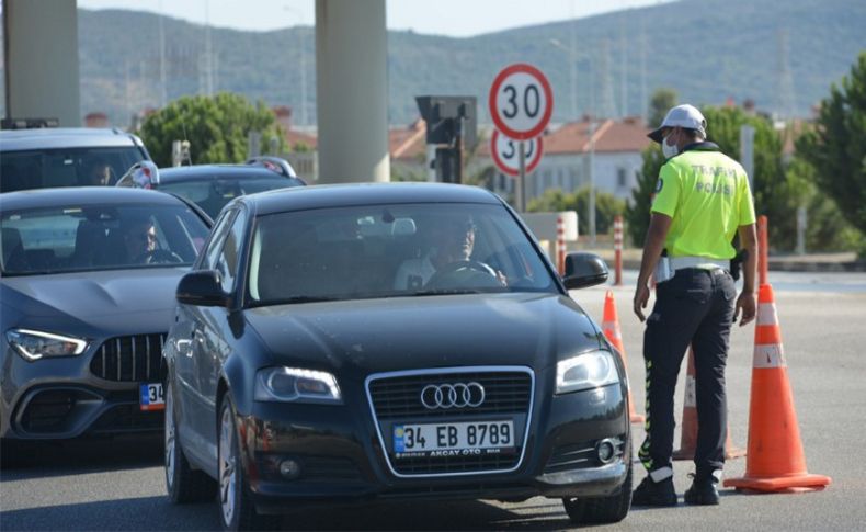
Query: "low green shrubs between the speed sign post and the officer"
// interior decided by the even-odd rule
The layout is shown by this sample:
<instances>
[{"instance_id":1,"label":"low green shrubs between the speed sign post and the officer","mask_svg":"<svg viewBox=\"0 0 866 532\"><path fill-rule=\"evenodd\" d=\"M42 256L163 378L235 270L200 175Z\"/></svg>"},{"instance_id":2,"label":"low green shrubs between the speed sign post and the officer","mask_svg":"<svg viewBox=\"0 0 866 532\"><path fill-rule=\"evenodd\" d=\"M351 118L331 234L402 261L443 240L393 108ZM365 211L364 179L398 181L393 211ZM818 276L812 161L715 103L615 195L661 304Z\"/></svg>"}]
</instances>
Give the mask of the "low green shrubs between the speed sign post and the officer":
<instances>
[{"instance_id":1,"label":"low green shrubs between the speed sign post and the officer","mask_svg":"<svg viewBox=\"0 0 866 532\"><path fill-rule=\"evenodd\" d=\"M590 189L584 186L573 193L561 189L547 189L526 206L528 212L577 211L578 227L590 226ZM613 230L614 216L623 215L626 202L607 192L595 192L595 231L604 235ZM583 231L584 229L580 229Z\"/></svg>"}]
</instances>

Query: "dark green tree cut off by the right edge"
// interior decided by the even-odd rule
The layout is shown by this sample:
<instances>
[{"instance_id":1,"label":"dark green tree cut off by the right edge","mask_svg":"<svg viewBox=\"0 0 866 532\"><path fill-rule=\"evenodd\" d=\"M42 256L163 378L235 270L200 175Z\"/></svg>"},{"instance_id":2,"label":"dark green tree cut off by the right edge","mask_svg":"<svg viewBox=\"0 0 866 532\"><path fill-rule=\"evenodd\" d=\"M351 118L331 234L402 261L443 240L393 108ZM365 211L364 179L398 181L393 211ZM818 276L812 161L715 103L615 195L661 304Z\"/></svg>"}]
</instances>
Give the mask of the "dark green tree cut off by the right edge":
<instances>
[{"instance_id":1,"label":"dark green tree cut off by the right edge","mask_svg":"<svg viewBox=\"0 0 866 532\"><path fill-rule=\"evenodd\" d=\"M830 88L817 127L796 146L813 167L821 190L854 227L866 233L866 52L859 54L851 76Z\"/></svg>"}]
</instances>

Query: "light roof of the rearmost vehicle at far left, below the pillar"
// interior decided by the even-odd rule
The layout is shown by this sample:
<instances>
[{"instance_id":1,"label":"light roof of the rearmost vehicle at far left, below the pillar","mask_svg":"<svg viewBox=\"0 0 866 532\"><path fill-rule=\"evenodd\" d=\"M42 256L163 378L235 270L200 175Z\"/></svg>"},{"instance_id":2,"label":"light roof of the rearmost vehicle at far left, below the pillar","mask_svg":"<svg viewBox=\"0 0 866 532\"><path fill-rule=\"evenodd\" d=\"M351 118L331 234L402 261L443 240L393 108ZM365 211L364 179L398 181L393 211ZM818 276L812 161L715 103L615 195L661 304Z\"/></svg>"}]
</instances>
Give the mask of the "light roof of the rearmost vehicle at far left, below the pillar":
<instances>
[{"instance_id":1,"label":"light roof of the rearmost vehicle at far left, below the pillar","mask_svg":"<svg viewBox=\"0 0 866 532\"><path fill-rule=\"evenodd\" d=\"M116 128L43 127L0 132L0 151L137 145L140 145L138 137Z\"/></svg>"}]
</instances>

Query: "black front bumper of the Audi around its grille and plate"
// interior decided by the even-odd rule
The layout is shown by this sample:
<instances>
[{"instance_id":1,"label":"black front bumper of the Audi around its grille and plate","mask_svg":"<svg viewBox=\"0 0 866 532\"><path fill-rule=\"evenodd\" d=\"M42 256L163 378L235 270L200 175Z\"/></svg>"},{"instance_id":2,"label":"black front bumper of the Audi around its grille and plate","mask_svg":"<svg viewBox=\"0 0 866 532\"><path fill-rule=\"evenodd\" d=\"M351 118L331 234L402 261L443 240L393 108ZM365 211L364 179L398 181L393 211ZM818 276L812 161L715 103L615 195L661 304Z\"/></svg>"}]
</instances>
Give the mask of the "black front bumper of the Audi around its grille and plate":
<instances>
[{"instance_id":1,"label":"black front bumper of the Audi around its grille and plate","mask_svg":"<svg viewBox=\"0 0 866 532\"><path fill-rule=\"evenodd\" d=\"M344 389L361 397L363 389ZM242 460L260 511L372 499L605 497L619 493L630 461L628 409L619 385L552 396L536 392L522 456L512 471L396 475L364 401L344 406L257 403L238 417ZM603 463L597 442L617 442ZM299 464L288 479L280 464ZM440 459L449 460L449 459Z\"/></svg>"}]
</instances>

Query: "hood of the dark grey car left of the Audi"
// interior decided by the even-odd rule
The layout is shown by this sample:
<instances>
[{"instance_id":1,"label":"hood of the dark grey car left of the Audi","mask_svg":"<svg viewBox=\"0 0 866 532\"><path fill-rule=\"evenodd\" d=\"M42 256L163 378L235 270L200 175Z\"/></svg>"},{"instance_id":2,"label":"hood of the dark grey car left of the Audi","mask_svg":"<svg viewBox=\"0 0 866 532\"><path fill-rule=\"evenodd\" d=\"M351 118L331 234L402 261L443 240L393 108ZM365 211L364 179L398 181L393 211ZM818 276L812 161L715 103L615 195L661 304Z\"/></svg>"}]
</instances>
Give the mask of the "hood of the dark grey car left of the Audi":
<instances>
[{"instance_id":1,"label":"hood of the dark grey car left of the Audi","mask_svg":"<svg viewBox=\"0 0 866 532\"><path fill-rule=\"evenodd\" d=\"M7 326L52 327L62 320L66 322L57 326L65 330L72 322L106 332L167 331L174 292L186 270L149 268L3 278L3 310L19 315L19 322L3 321Z\"/></svg>"}]
</instances>

